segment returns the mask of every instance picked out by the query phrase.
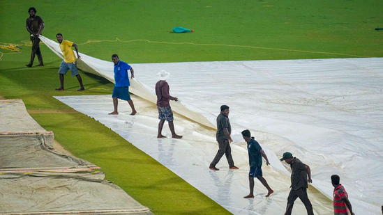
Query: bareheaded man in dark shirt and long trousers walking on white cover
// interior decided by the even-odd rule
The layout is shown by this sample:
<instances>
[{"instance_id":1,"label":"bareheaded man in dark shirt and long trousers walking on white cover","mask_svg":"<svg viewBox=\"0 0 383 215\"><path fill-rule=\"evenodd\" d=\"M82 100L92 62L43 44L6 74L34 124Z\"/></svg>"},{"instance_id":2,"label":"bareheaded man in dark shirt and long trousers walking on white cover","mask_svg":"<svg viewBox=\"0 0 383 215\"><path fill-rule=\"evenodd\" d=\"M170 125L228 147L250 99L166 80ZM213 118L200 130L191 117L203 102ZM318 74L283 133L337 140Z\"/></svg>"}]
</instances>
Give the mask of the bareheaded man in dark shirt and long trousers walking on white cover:
<instances>
[{"instance_id":1,"label":"bareheaded man in dark shirt and long trousers walking on white cover","mask_svg":"<svg viewBox=\"0 0 383 215\"><path fill-rule=\"evenodd\" d=\"M234 166L234 161L232 158L232 148L230 148L230 143L232 143L233 140L230 136L230 134L232 133L232 126L230 125L229 113L229 106L220 106L220 114L217 116L216 133L216 140L218 142L218 152L209 166L211 170L219 170L219 168L216 168L216 165L220 161L220 158L223 157L223 154L226 155L227 163L229 163L229 168L231 170L238 169L238 167Z\"/></svg>"}]
</instances>

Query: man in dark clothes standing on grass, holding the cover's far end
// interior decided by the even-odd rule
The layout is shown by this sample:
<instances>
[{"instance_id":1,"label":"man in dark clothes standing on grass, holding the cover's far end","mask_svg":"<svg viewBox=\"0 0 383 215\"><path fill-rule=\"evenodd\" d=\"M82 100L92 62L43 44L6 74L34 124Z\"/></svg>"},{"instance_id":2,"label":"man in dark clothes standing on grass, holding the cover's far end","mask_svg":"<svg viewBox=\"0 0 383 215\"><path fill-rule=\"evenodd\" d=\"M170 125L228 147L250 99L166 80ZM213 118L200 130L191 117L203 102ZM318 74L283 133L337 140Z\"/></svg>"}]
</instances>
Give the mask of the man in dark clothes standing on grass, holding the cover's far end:
<instances>
[{"instance_id":1,"label":"man in dark clothes standing on grass, holding the cover's far end","mask_svg":"<svg viewBox=\"0 0 383 215\"><path fill-rule=\"evenodd\" d=\"M43 56L41 55L40 51L40 38L38 38L38 35L40 35L41 31L43 31L44 29L44 22L43 19L41 19L41 17L36 15L36 8L29 8L28 13L29 17L25 26L27 28L27 31L31 34L32 53L31 60L26 66L32 67L36 54L38 58L38 65L36 66L44 66Z\"/></svg>"}]
</instances>

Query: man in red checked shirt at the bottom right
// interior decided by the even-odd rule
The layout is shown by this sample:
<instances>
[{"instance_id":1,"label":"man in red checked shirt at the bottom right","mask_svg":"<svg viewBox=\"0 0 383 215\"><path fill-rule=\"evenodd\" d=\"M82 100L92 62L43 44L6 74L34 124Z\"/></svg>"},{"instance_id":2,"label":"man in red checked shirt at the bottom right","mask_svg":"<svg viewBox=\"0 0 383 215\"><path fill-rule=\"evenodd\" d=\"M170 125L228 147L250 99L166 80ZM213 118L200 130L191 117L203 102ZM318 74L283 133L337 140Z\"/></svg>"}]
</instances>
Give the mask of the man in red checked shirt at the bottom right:
<instances>
[{"instance_id":1,"label":"man in red checked shirt at the bottom right","mask_svg":"<svg viewBox=\"0 0 383 215\"><path fill-rule=\"evenodd\" d=\"M331 175L331 183L333 184L333 214L334 215L348 215L352 212L352 206L348 200L348 194L345 187L339 183L340 177L338 175Z\"/></svg>"}]
</instances>

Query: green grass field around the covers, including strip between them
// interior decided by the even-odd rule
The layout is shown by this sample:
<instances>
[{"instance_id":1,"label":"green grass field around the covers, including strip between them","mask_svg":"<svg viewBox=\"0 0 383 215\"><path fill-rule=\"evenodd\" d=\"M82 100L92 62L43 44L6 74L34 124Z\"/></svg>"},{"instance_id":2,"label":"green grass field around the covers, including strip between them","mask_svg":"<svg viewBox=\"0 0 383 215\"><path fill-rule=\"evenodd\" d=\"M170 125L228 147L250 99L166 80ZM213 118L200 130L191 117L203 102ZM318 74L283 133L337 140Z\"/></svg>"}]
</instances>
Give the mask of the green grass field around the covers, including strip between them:
<instances>
[{"instance_id":1,"label":"green grass field around the covers, including strip between them","mask_svg":"<svg viewBox=\"0 0 383 215\"><path fill-rule=\"evenodd\" d=\"M87 90L77 92L77 80L68 74L66 91L55 91L61 59L44 45L45 67L25 67L31 53L25 19L31 6L43 18L47 38L63 33L80 52L107 61L114 53L128 63L383 57L383 31L374 30L383 27L381 0L0 0L0 45L23 48L17 54L0 49L0 95L23 99L31 116L67 150L101 166L107 180L157 215L229 212L110 129L52 97L110 95L113 85L81 73ZM195 32L172 33L174 26Z\"/></svg>"}]
</instances>

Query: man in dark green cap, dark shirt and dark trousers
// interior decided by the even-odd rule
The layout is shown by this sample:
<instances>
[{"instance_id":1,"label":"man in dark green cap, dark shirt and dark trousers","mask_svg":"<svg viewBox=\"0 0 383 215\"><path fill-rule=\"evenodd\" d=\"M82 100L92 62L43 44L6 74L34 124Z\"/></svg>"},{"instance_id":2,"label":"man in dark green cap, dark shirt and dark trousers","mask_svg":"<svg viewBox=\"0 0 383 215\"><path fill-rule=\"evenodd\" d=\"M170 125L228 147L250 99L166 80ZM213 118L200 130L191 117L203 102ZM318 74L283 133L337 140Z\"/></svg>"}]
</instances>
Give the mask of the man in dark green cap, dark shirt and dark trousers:
<instances>
[{"instance_id":1,"label":"man in dark green cap, dark shirt and dark trousers","mask_svg":"<svg viewBox=\"0 0 383 215\"><path fill-rule=\"evenodd\" d=\"M311 202L307 196L307 182L313 182L313 180L311 180L310 166L303 164L296 157L292 157L292 154L290 152L283 153L283 157L280 159L280 161L285 161L291 166L291 190L289 193L289 197L287 197L287 207L285 215L291 215L292 207L294 206L294 201L296 200L296 198L301 199L303 205L305 205L306 207L308 215L314 215L313 205L311 205Z\"/></svg>"}]
</instances>

